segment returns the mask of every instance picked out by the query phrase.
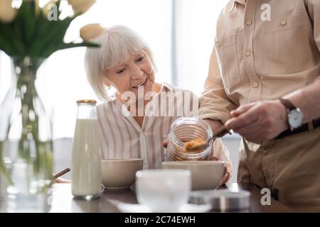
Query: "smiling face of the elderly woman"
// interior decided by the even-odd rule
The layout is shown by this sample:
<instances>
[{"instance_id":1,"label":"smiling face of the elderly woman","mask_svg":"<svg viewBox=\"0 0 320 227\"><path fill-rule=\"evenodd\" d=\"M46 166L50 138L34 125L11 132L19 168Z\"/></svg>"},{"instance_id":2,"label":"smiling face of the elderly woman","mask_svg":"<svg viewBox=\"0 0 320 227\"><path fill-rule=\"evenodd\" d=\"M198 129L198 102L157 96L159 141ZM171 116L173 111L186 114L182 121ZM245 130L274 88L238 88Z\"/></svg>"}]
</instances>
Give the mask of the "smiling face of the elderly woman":
<instances>
[{"instance_id":1,"label":"smiling face of the elderly woman","mask_svg":"<svg viewBox=\"0 0 320 227\"><path fill-rule=\"evenodd\" d=\"M154 67L144 50L132 55L127 62L107 70L107 85L112 85L120 94L134 92L138 97L138 87L144 94L154 90Z\"/></svg>"}]
</instances>

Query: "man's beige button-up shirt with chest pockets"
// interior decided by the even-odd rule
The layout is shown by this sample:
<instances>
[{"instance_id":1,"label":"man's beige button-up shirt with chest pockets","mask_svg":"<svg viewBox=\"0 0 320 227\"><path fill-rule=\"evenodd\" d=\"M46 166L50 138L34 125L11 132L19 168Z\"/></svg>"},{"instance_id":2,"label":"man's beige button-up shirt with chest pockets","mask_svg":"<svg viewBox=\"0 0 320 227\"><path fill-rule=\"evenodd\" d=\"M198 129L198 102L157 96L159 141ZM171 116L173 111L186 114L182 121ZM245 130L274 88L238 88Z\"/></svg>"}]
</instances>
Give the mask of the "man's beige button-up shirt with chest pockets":
<instances>
[{"instance_id":1,"label":"man's beige button-up shirt with chest pockets","mask_svg":"<svg viewBox=\"0 0 320 227\"><path fill-rule=\"evenodd\" d=\"M201 118L278 99L320 75L320 1L229 1L218 18Z\"/></svg>"}]
</instances>

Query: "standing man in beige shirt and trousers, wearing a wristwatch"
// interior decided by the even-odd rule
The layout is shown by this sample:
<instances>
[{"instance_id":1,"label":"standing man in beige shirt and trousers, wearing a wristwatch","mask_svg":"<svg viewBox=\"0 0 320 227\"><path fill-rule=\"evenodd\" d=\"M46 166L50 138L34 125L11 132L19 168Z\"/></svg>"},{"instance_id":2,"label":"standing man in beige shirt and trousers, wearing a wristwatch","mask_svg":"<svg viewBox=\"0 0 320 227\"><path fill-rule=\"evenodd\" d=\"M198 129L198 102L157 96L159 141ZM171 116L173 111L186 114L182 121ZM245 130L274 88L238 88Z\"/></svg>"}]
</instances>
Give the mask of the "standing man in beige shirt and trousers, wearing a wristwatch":
<instances>
[{"instance_id":1,"label":"standing man in beige shirt and trousers, wearing a wristwatch","mask_svg":"<svg viewBox=\"0 0 320 227\"><path fill-rule=\"evenodd\" d=\"M199 114L242 135L238 182L319 210L320 1L229 1Z\"/></svg>"}]
</instances>

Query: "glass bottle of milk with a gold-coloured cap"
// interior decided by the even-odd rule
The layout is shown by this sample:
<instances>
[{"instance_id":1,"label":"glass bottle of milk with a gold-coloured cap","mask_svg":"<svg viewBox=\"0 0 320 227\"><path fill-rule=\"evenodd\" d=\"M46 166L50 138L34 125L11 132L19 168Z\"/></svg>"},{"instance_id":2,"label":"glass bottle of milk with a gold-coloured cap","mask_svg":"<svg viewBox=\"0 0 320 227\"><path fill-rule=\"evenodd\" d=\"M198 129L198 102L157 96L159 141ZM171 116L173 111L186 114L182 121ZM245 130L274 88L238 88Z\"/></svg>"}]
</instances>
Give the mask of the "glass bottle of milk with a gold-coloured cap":
<instances>
[{"instance_id":1,"label":"glass bottle of milk with a gold-coloured cap","mask_svg":"<svg viewBox=\"0 0 320 227\"><path fill-rule=\"evenodd\" d=\"M101 191L101 157L97 136L95 100L78 104L72 154L72 193L75 198L93 199Z\"/></svg>"}]
</instances>

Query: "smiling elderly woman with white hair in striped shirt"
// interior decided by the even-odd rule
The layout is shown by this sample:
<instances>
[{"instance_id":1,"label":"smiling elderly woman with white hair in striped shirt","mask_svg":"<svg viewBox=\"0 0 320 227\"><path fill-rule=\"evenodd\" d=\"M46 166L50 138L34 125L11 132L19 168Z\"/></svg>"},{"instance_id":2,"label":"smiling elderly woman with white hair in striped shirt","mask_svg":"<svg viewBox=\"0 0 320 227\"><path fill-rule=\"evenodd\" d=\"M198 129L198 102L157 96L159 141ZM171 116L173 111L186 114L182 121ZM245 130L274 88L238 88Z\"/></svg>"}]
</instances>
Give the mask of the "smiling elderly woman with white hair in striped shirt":
<instances>
[{"instance_id":1,"label":"smiling elderly woman with white hair in striped shirt","mask_svg":"<svg viewBox=\"0 0 320 227\"><path fill-rule=\"evenodd\" d=\"M92 89L105 101L97 106L102 156L142 158L145 169L159 168L165 159L165 148L161 143L169 134L171 124L179 116L196 115L198 97L166 82L155 82L156 65L151 50L131 29L114 26L91 41L101 45L100 48L87 49L85 66ZM113 97L107 92L111 87L116 90ZM178 92L183 95L178 101L171 102L173 105L169 105L169 96L162 95L176 95ZM178 95L176 97L178 99ZM194 104L196 111L186 113L183 106ZM155 110L159 109L160 114L158 111L156 115ZM225 162L228 171L221 182L225 183L232 165L228 150L220 139L215 140L212 157Z\"/></svg>"}]
</instances>

